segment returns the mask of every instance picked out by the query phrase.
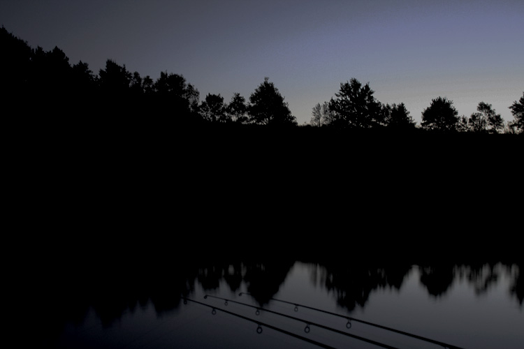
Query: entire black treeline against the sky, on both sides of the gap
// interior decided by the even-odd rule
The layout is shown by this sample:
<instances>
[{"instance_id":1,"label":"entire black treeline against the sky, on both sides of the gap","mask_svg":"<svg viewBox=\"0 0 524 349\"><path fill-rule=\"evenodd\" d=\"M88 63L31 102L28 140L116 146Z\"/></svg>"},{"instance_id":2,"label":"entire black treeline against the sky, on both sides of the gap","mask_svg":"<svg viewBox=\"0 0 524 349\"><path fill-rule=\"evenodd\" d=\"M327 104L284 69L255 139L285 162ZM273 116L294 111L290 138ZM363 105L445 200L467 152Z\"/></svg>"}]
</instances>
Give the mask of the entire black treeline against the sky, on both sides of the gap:
<instances>
[{"instance_id":1,"label":"entire black treeline against the sky, on both sides of the gap","mask_svg":"<svg viewBox=\"0 0 524 349\"><path fill-rule=\"evenodd\" d=\"M68 124L59 124L64 129L75 123L82 129L92 123L97 128L107 128L115 123L123 127L133 122L139 122L139 128L159 123L297 126L284 97L267 77L248 100L237 93L229 102L220 94L208 94L201 101L198 89L182 75L166 71L154 80L111 59L96 74L85 62L71 64L59 47L48 52L42 47L31 48L3 27L0 46L4 52L0 61L3 114L10 119L30 117L52 123L66 117ZM358 130L415 128L404 103L384 105L373 94L369 84L363 85L356 79L342 83L335 98L313 107L310 125ZM500 114L488 103L479 103L478 112L470 117L458 117L453 102L438 97L423 111L421 128L523 133L524 95L508 107L514 121L504 125Z\"/></svg>"}]
</instances>

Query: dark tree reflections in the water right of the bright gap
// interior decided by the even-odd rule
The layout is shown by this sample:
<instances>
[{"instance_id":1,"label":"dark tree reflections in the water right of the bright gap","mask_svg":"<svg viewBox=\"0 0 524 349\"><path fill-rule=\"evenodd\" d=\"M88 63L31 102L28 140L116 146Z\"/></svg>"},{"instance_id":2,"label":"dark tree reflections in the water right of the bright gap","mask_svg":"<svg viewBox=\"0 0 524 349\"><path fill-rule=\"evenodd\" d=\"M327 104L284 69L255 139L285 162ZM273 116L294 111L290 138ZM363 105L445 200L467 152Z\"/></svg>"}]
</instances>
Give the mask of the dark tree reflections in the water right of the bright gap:
<instances>
[{"instance_id":1,"label":"dark tree reflections in the water right of the bright gap","mask_svg":"<svg viewBox=\"0 0 524 349\"><path fill-rule=\"evenodd\" d=\"M509 295L514 297L519 306L523 306L523 265L503 263L473 263L455 265L439 262L432 265L330 265L324 264L312 272L312 283L321 285L330 292L335 292L337 304L353 311L356 307L364 308L371 293L380 289L400 290L402 283L412 268L417 268L421 285L431 297L443 297L453 283L465 279L472 285L476 295L488 292L500 281L505 273L511 280Z\"/></svg>"}]
</instances>

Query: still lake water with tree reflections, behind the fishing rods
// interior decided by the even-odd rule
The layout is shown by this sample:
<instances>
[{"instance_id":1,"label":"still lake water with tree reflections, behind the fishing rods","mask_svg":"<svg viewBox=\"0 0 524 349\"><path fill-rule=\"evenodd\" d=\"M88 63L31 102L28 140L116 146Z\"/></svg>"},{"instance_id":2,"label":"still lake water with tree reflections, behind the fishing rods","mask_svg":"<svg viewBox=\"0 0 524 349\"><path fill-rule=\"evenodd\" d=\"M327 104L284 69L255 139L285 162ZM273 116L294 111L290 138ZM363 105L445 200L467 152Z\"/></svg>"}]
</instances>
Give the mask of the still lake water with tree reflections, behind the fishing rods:
<instances>
[{"instance_id":1,"label":"still lake water with tree reflections, behind the fishing rods","mask_svg":"<svg viewBox=\"0 0 524 349\"><path fill-rule=\"evenodd\" d=\"M105 268L71 274L53 295L46 338L55 348L381 348L361 338L442 348L363 320L460 348L521 349L522 267L178 260L161 272Z\"/></svg>"}]
</instances>

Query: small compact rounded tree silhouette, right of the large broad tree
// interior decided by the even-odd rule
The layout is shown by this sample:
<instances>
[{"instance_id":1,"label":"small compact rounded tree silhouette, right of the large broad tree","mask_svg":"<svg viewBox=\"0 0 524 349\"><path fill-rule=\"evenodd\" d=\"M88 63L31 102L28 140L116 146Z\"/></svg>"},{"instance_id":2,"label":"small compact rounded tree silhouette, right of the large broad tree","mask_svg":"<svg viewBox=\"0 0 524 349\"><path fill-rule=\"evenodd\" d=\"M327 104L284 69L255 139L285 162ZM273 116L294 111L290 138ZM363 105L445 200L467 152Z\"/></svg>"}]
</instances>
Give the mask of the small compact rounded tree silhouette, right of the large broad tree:
<instances>
[{"instance_id":1,"label":"small compact rounded tree silhouette, right of the large broad tree","mask_svg":"<svg viewBox=\"0 0 524 349\"><path fill-rule=\"evenodd\" d=\"M422 127L427 130L454 131L458 123L458 112L447 98L435 98L422 112Z\"/></svg>"}]
</instances>

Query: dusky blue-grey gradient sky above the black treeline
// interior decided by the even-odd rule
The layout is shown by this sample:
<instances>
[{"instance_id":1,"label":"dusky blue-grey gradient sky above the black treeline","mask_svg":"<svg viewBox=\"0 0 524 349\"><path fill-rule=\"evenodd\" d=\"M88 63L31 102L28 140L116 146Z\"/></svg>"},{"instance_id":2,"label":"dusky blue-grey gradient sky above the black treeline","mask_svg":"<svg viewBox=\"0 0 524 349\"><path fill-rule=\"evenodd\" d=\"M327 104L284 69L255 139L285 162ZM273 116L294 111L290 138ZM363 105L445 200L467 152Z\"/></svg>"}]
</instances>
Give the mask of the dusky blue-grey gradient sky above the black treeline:
<instances>
[{"instance_id":1,"label":"dusky blue-grey gradient sky above the black treeline","mask_svg":"<svg viewBox=\"0 0 524 349\"><path fill-rule=\"evenodd\" d=\"M201 100L249 98L267 76L299 124L351 77L418 124L438 96L513 120L524 91L523 0L0 0L0 25L95 73L182 74Z\"/></svg>"}]
</instances>

